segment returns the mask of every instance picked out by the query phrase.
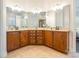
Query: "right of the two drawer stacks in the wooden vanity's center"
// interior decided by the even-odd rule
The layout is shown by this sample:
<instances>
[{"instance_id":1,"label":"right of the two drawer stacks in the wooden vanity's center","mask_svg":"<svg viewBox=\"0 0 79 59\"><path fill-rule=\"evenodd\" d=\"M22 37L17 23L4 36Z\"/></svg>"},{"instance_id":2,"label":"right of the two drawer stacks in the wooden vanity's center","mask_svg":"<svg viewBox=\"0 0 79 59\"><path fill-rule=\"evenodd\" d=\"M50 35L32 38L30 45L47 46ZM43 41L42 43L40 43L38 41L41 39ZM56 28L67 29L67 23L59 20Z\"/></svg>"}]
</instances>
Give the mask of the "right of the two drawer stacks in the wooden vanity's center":
<instances>
[{"instance_id":1,"label":"right of the two drawer stacks in the wooden vanity's center","mask_svg":"<svg viewBox=\"0 0 79 59\"><path fill-rule=\"evenodd\" d=\"M44 31L43 30L37 30L36 43L37 44L44 44Z\"/></svg>"}]
</instances>

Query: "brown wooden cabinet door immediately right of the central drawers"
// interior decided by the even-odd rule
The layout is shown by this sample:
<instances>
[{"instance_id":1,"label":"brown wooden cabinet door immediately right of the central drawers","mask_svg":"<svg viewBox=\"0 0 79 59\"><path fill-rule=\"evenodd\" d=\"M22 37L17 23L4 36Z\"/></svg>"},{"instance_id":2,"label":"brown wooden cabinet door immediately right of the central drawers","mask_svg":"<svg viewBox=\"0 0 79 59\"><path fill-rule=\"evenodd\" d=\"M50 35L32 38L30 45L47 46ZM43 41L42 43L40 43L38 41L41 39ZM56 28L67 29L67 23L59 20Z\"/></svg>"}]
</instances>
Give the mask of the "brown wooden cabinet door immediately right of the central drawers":
<instances>
[{"instance_id":1,"label":"brown wooden cabinet door immediately right of the central drawers","mask_svg":"<svg viewBox=\"0 0 79 59\"><path fill-rule=\"evenodd\" d=\"M54 34L52 31L45 31L45 45L53 47Z\"/></svg>"}]
</instances>

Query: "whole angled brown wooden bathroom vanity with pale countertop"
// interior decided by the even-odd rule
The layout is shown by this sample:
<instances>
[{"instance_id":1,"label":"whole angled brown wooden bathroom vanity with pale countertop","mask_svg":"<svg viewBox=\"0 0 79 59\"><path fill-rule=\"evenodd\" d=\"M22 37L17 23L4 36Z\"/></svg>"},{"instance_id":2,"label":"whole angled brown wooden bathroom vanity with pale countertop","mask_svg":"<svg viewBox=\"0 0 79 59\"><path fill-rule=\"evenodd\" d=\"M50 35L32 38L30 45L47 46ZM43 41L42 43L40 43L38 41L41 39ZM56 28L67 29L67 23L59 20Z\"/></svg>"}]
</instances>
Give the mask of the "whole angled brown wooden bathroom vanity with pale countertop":
<instances>
[{"instance_id":1,"label":"whole angled brown wooden bathroom vanity with pale countertop","mask_svg":"<svg viewBox=\"0 0 79 59\"><path fill-rule=\"evenodd\" d=\"M26 29L7 31L7 51L28 46L45 45L68 53L69 31L51 29Z\"/></svg>"}]
</instances>

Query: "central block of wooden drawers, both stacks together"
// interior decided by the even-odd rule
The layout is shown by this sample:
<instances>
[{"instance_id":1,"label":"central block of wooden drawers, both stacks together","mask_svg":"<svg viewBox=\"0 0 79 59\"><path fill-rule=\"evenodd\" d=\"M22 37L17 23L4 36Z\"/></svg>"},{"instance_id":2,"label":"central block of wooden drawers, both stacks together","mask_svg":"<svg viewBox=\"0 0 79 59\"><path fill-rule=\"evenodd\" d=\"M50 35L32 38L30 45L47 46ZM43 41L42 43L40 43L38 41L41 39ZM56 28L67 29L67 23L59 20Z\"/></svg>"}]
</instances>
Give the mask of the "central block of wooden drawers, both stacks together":
<instances>
[{"instance_id":1,"label":"central block of wooden drawers, both stacks together","mask_svg":"<svg viewBox=\"0 0 79 59\"><path fill-rule=\"evenodd\" d=\"M29 44L41 45L44 43L43 30L29 30Z\"/></svg>"}]
</instances>

